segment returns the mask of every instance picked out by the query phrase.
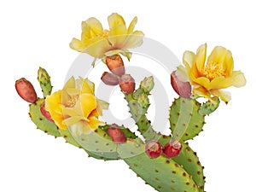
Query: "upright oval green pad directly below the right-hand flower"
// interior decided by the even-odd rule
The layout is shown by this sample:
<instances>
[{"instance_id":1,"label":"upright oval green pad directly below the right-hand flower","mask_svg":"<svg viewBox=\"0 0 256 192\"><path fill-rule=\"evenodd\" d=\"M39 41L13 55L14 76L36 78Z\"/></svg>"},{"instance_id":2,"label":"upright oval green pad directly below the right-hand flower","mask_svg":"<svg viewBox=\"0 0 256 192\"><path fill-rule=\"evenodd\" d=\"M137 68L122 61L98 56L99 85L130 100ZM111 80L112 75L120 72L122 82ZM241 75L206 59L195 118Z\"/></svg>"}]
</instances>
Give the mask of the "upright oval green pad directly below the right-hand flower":
<instances>
[{"instance_id":1,"label":"upright oval green pad directly below the right-hand flower","mask_svg":"<svg viewBox=\"0 0 256 192\"><path fill-rule=\"evenodd\" d=\"M175 99L170 110L172 137L186 141L197 136L205 124L204 115L199 112L201 104L195 100L180 97Z\"/></svg>"}]
</instances>

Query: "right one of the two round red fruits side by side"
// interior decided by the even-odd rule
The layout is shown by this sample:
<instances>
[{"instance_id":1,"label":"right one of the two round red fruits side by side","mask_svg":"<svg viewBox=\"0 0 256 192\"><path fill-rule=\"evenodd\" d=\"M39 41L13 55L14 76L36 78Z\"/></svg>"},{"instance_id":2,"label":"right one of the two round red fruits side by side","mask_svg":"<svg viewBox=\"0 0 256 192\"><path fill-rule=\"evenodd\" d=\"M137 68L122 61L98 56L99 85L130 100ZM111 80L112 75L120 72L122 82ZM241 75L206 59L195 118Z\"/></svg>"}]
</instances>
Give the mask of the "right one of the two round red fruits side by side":
<instances>
[{"instance_id":1,"label":"right one of the two round red fruits side by side","mask_svg":"<svg viewBox=\"0 0 256 192\"><path fill-rule=\"evenodd\" d=\"M167 158L174 158L180 154L182 148L183 146L179 141L172 141L166 144L165 148L163 149L163 154Z\"/></svg>"}]
</instances>

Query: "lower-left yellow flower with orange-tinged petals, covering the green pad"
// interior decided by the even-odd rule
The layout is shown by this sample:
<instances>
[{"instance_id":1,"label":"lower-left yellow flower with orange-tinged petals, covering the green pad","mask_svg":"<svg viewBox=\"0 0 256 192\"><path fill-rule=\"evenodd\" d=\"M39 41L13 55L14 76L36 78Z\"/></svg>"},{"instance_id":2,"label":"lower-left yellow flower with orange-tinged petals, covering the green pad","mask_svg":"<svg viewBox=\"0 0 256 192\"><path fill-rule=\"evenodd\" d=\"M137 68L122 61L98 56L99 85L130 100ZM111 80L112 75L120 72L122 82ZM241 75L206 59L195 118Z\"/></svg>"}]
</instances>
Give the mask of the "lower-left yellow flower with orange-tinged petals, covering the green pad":
<instances>
[{"instance_id":1,"label":"lower-left yellow flower with orange-tinged petals, covering the green pad","mask_svg":"<svg viewBox=\"0 0 256 192\"><path fill-rule=\"evenodd\" d=\"M108 108L94 95L94 84L89 79L75 81L72 77L63 90L58 90L45 99L45 109L49 112L55 124L62 130L71 125L79 125L85 134L105 125L98 119L102 108Z\"/></svg>"}]
</instances>

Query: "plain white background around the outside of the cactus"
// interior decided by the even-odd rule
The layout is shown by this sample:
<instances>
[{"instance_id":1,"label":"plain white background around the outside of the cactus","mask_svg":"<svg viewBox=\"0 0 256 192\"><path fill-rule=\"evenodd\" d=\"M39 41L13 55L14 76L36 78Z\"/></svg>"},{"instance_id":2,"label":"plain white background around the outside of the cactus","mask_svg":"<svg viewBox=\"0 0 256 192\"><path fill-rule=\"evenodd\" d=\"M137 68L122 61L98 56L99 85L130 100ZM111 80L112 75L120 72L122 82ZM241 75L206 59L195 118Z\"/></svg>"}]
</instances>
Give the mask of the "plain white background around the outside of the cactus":
<instances>
[{"instance_id":1,"label":"plain white background around the outside of the cactus","mask_svg":"<svg viewBox=\"0 0 256 192\"><path fill-rule=\"evenodd\" d=\"M205 166L206 190L252 191L255 187L255 6L253 1L6 1L0 3L1 139L0 191L154 191L122 161L87 158L83 150L35 129L15 79L30 79L39 92L38 66L47 68L55 90L79 55L69 48L80 23L91 16L107 27L113 12L166 44L183 51L207 42L230 49L247 86L230 89L232 100L207 118L190 142ZM88 64L88 63L87 63ZM169 79L166 87L171 89Z\"/></svg>"}]
</instances>

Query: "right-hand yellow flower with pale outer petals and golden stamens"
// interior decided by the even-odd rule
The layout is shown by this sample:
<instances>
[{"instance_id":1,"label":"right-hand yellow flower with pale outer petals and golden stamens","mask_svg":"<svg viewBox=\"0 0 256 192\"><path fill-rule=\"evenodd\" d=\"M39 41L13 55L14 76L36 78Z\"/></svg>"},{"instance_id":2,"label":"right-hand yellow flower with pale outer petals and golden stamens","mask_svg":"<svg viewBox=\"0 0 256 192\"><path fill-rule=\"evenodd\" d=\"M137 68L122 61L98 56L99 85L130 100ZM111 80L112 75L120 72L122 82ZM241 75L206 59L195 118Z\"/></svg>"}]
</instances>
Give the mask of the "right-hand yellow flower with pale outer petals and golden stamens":
<instances>
[{"instance_id":1,"label":"right-hand yellow flower with pale outer petals and golden stamens","mask_svg":"<svg viewBox=\"0 0 256 192\"><path fill-rule=\"evenodd\" d=\"M230 101L230 93L223 91L230 86L241 87L246 79L241 71L234 71L234 61L230 50L217 46L207 58L207 44L196 51L185 51L183 66L177 67L177 77L194 85L193 94L211 99L218 96L224 102ZM206 63L206 64L205 64Z\"/></svg>"}]
</instances>

